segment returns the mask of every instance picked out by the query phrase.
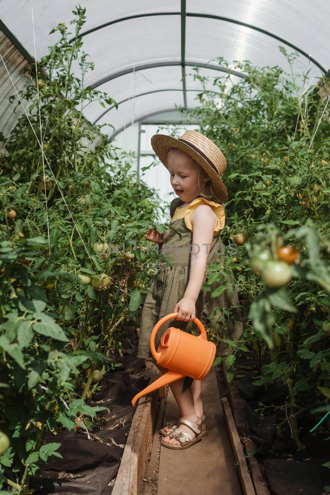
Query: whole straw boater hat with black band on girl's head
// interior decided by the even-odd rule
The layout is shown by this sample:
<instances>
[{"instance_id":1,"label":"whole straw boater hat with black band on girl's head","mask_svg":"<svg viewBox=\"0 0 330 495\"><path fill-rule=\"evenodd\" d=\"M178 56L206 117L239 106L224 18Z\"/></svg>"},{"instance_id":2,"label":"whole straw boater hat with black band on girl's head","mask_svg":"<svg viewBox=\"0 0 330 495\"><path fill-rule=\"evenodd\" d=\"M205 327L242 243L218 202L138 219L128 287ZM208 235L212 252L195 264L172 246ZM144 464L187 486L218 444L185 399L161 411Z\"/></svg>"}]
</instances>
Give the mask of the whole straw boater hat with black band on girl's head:
<instances>
[{"instance_id":1,"label":"whole straw boater hat with black band on girl's head","mask_svg":"<svg viewBox=\"0 0 330 495\"><path fill-rule=\"evenodd\" d=\"M213 141L204 134L197 131L186 131L179 139L165 134L155 134L151 138L151 146L167 169L168 150L178 148L185 151L208 174L216 197L224 203L227 201L227 189L220 178L227 167L226 158Z\"/></svg>"}]
</instances>

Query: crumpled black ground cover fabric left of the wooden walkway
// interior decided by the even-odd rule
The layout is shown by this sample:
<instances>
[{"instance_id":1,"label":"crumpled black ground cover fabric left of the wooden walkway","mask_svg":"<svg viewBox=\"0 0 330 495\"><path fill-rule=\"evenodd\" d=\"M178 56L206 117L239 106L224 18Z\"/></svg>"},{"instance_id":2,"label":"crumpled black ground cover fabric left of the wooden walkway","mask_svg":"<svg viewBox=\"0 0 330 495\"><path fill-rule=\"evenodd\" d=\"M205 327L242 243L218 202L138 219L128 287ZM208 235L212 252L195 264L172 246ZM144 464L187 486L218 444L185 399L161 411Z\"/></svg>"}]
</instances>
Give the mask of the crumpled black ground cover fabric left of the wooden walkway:
<instances>
[{"instance_id":1,"label":"crumpled black ground cover fabric left of the wooden walkway","mask_svg":"<svg viewBox=\"0 0 330 495\"><path fill-rule=\"evenodd\" d=\"M113 356L113 362L120 362L122 366L104 375L101 390L93 396L94 405L102 404L110 409L110 414L100 413L106 418L102 429L91 432L91 440L83 429L66 430L49 437L49 442L62 443L59 452L63 458L47 464L42 478L31 480L35 495L111 494L111 480L117 475L135 412L131 400L148 385L151 374L145 368L144 359L135 357L137 338L133 330L129 338L133 348L124 344L123 357Z\"/></svg>"}]
</instances>

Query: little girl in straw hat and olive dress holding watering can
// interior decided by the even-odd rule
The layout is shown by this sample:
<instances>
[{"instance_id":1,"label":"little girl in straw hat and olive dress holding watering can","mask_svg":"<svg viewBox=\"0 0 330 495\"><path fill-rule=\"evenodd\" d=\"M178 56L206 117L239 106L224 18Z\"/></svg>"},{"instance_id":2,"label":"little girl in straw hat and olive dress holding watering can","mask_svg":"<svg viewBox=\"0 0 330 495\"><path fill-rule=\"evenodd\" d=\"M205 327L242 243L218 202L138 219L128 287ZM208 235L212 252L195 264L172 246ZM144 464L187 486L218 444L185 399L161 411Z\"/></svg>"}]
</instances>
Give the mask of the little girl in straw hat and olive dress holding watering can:
<instances>
[{"instance_id":1,"label":"little girl in straw hat and olive dress holding watering can","mask_svg":"<svg viewBox=\"0 0 330 495\"><path fill-rule=\"evenodd\" d=\"M206 265L214 261L222 263L224 252L220 231L227 223L223 203L228 195L220 178L227 166L222 151L196 131L187 131L179 139L156 134L151 138L151 145L169 170L171 185L179 197L170 205L172 229L163 234L152 229L146 235L146 239L162 245L161 253L171 261L173 268L160 258L158 273L145 298L141 315L137 353L141 358L150 357L151 330L163 316L178 313L176 322L169 320L158 330L156 349L170 326L184 331L196 330L196 324L191 321L195 317L205 325L206 318L213 311L216 313L217 308L239 306L237 292L229 290L234 283L227 283L228 288L218 297L210 298L217 283L211 285L211 292L201 291L207 280ZM225 329L226 337L232 341L239 340L242 335L239 307L235 309L235 315L237 321L229 322ZM214 319L219 322L222 317L215 314ZM228 346L222 342L218 353L228 355ZM167 371L156 366L161 373ZM187 448L207 435L201 381L194 380L185 392L182 391L183 383L184 379L180 379L170 384L181 417L177 423L167 423L160 430L164 436L161 445L172 449Z\"/></svg>"}]
</instances>

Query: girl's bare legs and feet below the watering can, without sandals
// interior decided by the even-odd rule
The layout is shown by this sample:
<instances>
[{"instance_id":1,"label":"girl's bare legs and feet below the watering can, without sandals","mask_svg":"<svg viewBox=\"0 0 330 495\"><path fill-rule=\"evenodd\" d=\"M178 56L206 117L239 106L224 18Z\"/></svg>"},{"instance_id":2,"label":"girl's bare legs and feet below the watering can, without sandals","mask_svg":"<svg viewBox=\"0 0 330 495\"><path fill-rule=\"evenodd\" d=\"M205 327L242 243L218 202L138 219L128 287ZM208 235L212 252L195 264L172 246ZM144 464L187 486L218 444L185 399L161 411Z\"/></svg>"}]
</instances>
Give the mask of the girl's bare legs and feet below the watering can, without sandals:
<instances>
[{"instance_id":1,"label":"girl's bare legs and feet below the watering can, without sandals","mask_svg":"<svg viewBox=\"0 0 330 495\"><path fill-rule=\"evenodd\" d=\"M166 371L167 371L166 368L163 368L162 366L158 366L157 364L156 364L156 366L162 374L166 373ZM175 398L175 400L179 406L181 417L188 419L188 421L191 421L192 423L196 423L198 420L197 420L197 415L195 412L195 404L194 404L194 398L192 395L192 390L191 390L191 387L189 387L187 390L185 390L185 392L182 392L183 384L184 384L184 378L181 378L180 380L177 380L176 382L171 383L170 389L171 389L172 394L174 395L174 398ZM199 384L200 384L200 382L199 382ZM196 396L200 396L200 400L201 400L201 394L199 393L198 389L196 392ZM192 433L191 428L189 428L186 425L180 425L178 427L178 431L183 432L183 433L189 433L189 434ZM174 445L181 445L181 442L179 442L175 438L170 439L170 437L164 437L164 442L169 442L170 444L174 444Z\"/></svg>"}]
</instances>

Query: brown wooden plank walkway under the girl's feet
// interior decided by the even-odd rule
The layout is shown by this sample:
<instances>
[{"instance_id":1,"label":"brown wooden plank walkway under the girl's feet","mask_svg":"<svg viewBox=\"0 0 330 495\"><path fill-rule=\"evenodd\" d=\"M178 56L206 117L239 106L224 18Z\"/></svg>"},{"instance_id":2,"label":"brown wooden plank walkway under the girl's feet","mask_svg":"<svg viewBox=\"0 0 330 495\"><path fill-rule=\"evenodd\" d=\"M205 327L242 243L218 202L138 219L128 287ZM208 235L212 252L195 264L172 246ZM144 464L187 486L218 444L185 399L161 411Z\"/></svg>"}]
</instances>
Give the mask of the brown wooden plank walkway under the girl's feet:
<instances>
[{"instance_id":1,"label":"brown wooden plank walkway under the girl's feet","mask_svg":"<svg viewBox=\"0 0 330 495\"><path fill-rule=\"evenodd\" d=\"M241 495L214 367L202 382L202 397L208 436L185 450L160 447L157 495ZM169 390L163 424L178 417Z\"/></svg>"}]
</instances>

